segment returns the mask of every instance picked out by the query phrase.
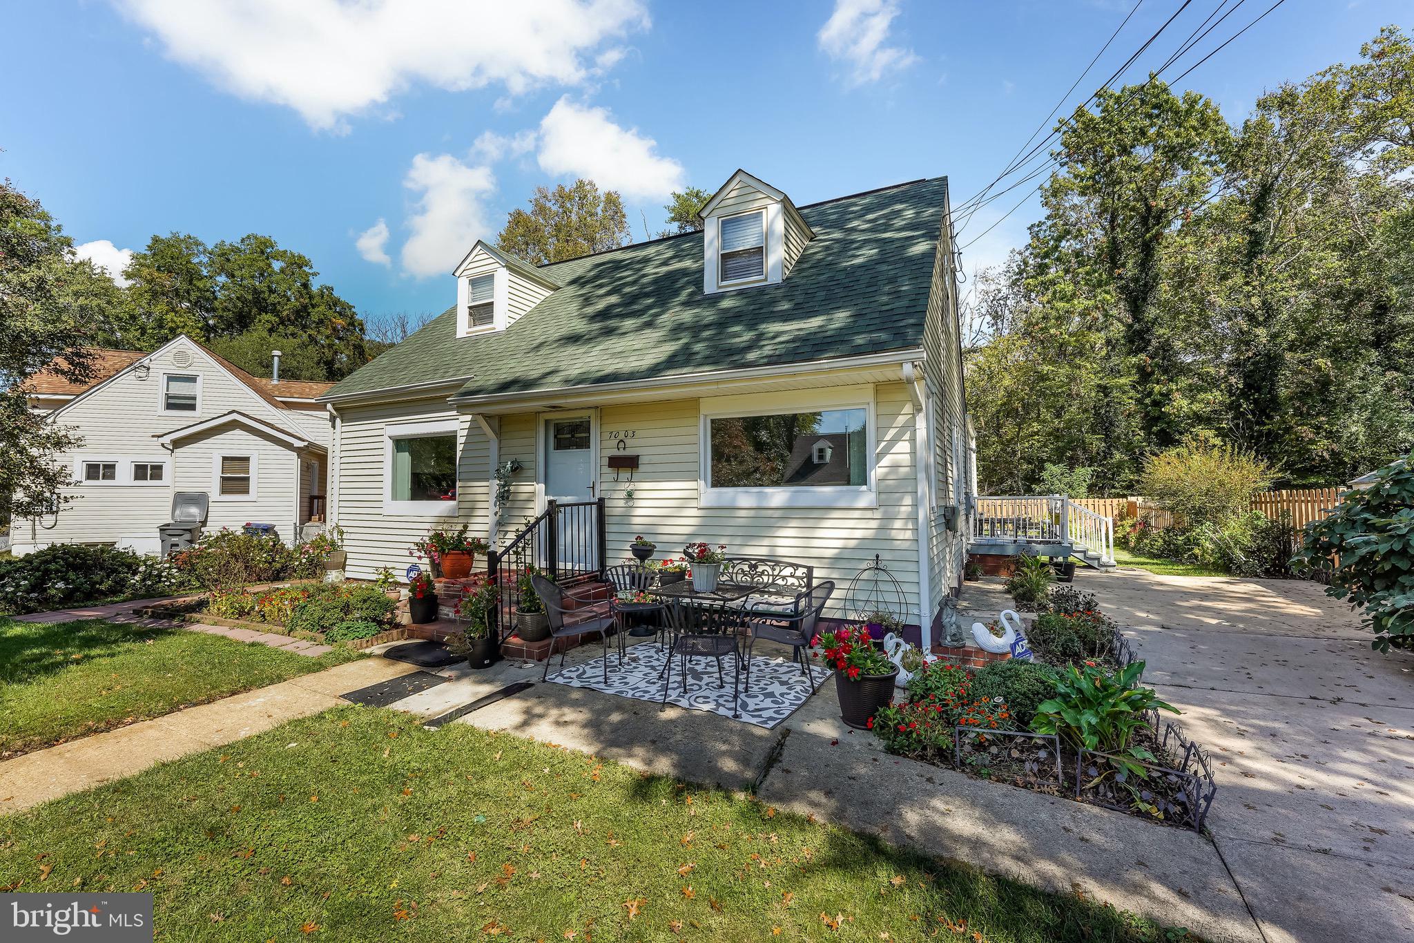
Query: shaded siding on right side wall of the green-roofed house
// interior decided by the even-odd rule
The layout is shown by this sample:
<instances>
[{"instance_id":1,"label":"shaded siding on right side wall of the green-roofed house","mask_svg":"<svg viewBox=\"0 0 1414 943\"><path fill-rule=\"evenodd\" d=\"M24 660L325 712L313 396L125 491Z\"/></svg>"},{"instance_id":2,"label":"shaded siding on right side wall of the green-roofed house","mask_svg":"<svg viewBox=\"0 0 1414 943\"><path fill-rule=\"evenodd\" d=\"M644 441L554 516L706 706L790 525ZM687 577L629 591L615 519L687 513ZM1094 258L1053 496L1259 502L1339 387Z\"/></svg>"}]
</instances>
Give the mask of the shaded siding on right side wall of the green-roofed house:
<instances>
[{"instance_id":1,"label":"shaded siding on right side wall of the green-roofed house","mask_svg":"<svg viewBox=\"0 0 1414 943\"><path fill-rule=\"evenodd\" d=\"M971 492L971 468L967 433L967 406L957 335L957 281L953 277L952 232L945 213L933 260L933 287L928 298L923 325L925 386L932 410L933 467L929 509L929 591L936 612L949 590L960 585L967 554L967 516ZM960 500L959 500L960 495ZM947 530L943 509L960 503L957 530Z\"/></svg>"}]
</instances>

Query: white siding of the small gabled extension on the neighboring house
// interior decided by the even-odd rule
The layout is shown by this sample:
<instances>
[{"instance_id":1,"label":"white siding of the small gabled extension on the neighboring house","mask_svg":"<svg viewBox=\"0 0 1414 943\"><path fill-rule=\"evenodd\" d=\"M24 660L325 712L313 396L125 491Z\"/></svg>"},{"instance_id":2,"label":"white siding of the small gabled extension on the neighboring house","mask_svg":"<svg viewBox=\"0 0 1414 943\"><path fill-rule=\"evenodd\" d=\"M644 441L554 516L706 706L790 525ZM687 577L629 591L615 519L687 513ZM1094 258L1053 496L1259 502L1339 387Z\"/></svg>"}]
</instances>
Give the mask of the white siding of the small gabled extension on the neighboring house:
<instances>
[{"instance_id":1,"label":"white siding of the small gabled extension on the neighboring house","mask_svg":"<svg viewBox=\"0 0 1414 943\"><path fill-rule=\"evenodd\" d=\"M216 493L216 462L222 455L249 455L250 498ZM177 491L211 495L206 530L240 530L247 522L274 525L280 540L296 543L294 498L300 482L298 457L284 443L239 426L223 426L177 443L173 481ZM160 522L161 523L161 522Z\"/></svg>"}]
</instances>

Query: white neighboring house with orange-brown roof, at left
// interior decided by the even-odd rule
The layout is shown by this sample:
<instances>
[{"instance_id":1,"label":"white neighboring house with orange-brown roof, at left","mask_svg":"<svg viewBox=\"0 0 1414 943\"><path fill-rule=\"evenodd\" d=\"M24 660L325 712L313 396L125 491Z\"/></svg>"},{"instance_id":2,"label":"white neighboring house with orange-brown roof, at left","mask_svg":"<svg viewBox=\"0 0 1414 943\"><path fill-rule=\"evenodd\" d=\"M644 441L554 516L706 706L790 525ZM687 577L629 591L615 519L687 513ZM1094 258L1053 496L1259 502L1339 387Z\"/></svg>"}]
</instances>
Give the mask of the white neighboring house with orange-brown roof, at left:
<instances>
[{"instance_id":1,"label":"white neighboring house with orange-brown roof, at left","mask_svg":"<svg viewBox=\"0 0 1414 943\"><path fill-rule=\"evenodd\" d=\"M173 493L211 496L208 529L274 525L287 543L324 513L331 383L266 380L178 336L151 353L98 351L88 383L25 382L30 407L72 428L75 485L45 517L16 520L14 553L51 543L160 549ZM276 369L279 373L279 368Z\"/></svg>"}]
</instances>

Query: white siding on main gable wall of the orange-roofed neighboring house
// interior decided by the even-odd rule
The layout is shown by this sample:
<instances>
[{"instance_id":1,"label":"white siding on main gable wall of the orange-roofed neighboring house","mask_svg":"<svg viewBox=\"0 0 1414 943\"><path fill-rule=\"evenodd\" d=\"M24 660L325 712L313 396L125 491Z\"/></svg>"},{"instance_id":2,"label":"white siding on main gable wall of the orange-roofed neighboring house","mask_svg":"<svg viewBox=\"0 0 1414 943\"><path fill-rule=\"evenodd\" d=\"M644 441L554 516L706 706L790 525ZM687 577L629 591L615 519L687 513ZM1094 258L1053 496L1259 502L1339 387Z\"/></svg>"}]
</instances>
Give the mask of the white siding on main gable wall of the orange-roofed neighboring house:
<instances>
[{"instance_id":1,"label":"white siding on main gable wall of the orange-roofed neighboring house","mask_svg":"<svg viewBox=\"0 0 1414 943\"><path fill-rule=\"evenodd\" d=\"M184 351L189 363L178 366L175 355ZM197 373L201 376L199 410L195 413L163 413L163 373ZM287 410L276 410L238 382L194 344L178 339L153 358L146 379L132 369L120 372L103 385L69 402L54 423L69 427L83 443L64 455L72 469L75 459L89 457L119 457L126 461L167 461L171 464L165 486L92 486L65 488L72 500L62 505L58 522L42 523L17 520L13 540L17 547L51 543L115 543L124 537L157 539L157 527L171 520L171 479L180 462L157 444L157 435L230 410L273 423L291 433L301 427L288 420ZM82 465L81 465L82 467ZM274 469L271 469L273 474ZM291 481L293 486L293 481ZM205 481L195 491L211 491L211 465L205 467ZM293 499L291 499L293 500ZM290 517L288 513L283 519ZM276 523L276 522L271 522Z\"/></svg>"}]
</instances>

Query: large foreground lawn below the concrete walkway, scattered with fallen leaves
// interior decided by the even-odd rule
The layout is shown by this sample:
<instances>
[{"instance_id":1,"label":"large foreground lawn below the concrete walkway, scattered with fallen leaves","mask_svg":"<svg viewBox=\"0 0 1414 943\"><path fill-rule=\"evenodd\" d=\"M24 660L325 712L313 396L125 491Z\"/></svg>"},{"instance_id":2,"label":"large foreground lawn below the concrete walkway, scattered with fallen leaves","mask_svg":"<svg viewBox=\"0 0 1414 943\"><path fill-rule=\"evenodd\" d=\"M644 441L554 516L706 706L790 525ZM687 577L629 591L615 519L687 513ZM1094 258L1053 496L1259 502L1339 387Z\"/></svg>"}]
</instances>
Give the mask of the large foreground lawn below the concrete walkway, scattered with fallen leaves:
<instances>
[{"instance_id":1,"label":"large foreground lawn below the concrete walkway, scattered with fallen leaves","mask_svg":"<svg viewBox=\"0 0 1414 943\"><path fill-rule=\"evenodd\" d=\"M184 942L1181 936L740 795L358 707L0 819L7 889L150 891L157 939Z\"/></svg>"}]
</instances>

